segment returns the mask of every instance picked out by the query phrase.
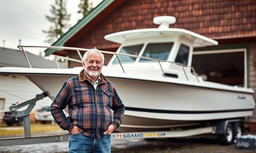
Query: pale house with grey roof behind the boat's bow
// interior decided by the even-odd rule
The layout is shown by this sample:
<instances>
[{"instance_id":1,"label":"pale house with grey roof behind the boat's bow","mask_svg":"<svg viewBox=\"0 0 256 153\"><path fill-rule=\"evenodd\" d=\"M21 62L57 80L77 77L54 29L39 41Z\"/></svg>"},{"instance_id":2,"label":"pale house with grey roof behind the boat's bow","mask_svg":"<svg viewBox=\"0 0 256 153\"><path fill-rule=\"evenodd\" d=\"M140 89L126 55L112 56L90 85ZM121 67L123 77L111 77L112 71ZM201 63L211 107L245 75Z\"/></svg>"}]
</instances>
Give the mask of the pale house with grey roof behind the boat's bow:
<instances>
[{"instance_id":1,"label":"pale house with grey roof behind the boat's bow","mask_svg":"<svg viewBox=\"0 0 256 153\"><path fill-rule=\"evenodd\" d=\"M46 60L29 52L26 52L26 54L33 68L58 68L54 61ZM63 62L59 62L59 65L61 68L67 68ZM29 65L22 50L0 47L0 67L29 68ZM0 75L0 123L4 115L3 112L8 111L9 106L16 102L22 103L35 98L36 94L41 94L42 92L26 77ZM41 109L42 106L50 106L51 103L52 100L46 97L36 103L34 110ZM24 109L21 108L20 110Z\"/></svg>"}]
</instances>

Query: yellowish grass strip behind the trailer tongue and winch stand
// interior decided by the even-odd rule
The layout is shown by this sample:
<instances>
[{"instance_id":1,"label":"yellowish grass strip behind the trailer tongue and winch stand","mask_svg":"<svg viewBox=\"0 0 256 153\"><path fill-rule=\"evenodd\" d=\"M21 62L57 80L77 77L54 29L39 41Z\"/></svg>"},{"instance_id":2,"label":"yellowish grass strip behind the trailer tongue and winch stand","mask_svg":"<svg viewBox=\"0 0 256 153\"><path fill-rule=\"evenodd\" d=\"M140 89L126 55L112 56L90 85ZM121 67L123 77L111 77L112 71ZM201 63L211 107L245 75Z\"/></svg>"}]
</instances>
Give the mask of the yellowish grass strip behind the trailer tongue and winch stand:
<instances>
[{"instance_id":1,"label":"yellowish grass strip behind the trailer tongue and winch stand","mask_svg":"<svg viewBox=\"0 0 256 153\"><path fill-rule=\"evenodd\" d=\"M0 127L8 127L6 124L0 124ZM14 125L10 128L13 127L20 127L17 129L11 129L11 130L6 130L6 129L1 129L0 128L0 137L5 137L5 136L15 136L15 135L24 135L24 128L23 126L18 126ZM58 131L62 130L57 124L40 124L40 123L30 123L30 131L31 134L35 133L44 133L44 132L52 132L52 131Z\"/></svg>"}]
</instances>

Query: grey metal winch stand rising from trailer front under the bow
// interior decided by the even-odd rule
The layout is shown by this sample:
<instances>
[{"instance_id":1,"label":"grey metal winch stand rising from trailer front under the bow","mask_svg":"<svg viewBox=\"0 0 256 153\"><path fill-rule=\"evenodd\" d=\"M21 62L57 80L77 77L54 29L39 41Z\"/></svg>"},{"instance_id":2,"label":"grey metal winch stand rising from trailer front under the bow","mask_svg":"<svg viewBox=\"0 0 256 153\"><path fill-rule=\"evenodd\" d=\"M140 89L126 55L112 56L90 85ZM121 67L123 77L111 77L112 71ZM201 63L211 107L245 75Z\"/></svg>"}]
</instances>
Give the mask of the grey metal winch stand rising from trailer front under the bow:
<instances>
[{"instance_id":1,"label":"grey metal winch stand rising from trailer front under the bow","mask_svg":"<svg viewBox=\"0 0 256 153\"><path fill-rule=\"evenodd\" d=\"M12 112L13 116L15 116L15 120L18 120L18 117L23 117L25 138L31 137L29 113L32 111L32 109L34 108L38 100L41 100L47 96L48 96L47 92L43 92L41 94L37 94L36 98L30 99L18 105L12 104L12 106L9 107L10 112ZM28 105L28 108L26 110L20 111L20 112L17 111L21 107L24 107L27 105Z\"/></svg>"}]
</instances>

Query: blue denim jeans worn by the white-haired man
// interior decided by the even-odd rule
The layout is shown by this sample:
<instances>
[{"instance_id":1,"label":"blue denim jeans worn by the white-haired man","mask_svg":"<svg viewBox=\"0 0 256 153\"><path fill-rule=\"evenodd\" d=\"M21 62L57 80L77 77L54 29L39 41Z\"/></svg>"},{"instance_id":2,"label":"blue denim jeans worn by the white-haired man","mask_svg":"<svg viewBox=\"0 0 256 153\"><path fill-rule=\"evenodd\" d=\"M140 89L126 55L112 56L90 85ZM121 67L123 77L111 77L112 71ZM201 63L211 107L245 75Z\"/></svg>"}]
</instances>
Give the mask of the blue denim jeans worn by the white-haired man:
<instances>
[{"instance_id":1,"label":"blue denim jeans worn by the white-haired man","mask_svg":"<svg viewBox=\"0 0 256 153\"><path fill-rule=\"evenodd\" d=\"M78 134L70 134L69 137L69 153L110 153L111 151L111 135L105 135L103 138L97 139L85 136L82 132Z\"/></svg>"}]
</instances>

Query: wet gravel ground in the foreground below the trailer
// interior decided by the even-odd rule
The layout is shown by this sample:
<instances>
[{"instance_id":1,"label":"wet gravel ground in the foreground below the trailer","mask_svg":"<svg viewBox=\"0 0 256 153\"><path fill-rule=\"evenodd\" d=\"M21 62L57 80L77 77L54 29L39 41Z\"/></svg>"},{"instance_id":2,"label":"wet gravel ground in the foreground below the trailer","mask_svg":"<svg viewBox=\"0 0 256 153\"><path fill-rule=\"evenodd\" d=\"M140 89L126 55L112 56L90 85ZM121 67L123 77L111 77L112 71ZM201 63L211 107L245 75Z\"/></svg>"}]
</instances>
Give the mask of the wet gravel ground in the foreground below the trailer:
<instances>
[{"instance_id":1,"label":"wet gravel ground in the foreground below the trailer","mask_svg":"<svg viewBox=\"0 0 256 153\"><path fill-rule=\"evenodd\" d=\"M68 142L0 147L1 153L67 153ZM255 153L236 149L235 144L222 146L214 137L196 136L176 139L112 140L112 153Z\"/></svg>"}]
</instances>

